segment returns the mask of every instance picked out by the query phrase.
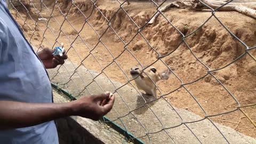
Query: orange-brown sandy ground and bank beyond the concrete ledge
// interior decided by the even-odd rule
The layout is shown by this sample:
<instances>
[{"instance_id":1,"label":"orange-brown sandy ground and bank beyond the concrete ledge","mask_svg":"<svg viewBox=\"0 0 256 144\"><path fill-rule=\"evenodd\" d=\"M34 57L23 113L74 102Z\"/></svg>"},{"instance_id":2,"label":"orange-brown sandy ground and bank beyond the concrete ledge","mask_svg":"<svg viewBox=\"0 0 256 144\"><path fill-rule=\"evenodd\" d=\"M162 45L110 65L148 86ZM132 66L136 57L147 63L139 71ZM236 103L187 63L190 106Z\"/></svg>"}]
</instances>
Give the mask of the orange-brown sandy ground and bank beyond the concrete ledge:
<instances>
[{"instance_id":1,"label":"orange-brown sandy ground and bank beyond the concrete ledge","mask_svg":"<svg viewBox=\"0 0 256 144\"><path fill-rule=\"evenodd\" d=\"M207 21L202 28L189 35L211 16L211 12L172 9L164 13L165 17L160 15L153 25L144 27L137 34L138 29L145 25L145 22L156 11L156 7L152 3L133 2L129 6L124 5L123 9L130 17L127 17L127 14L119 9L120 4L114 1L113 3L100 1L97 4L100 11L98 9L92 11L93 5L89 1L75 1L76 6L84 14L78 11L76 6L71 5L70 7L70 3L66 1L60 1L60 3L58 6L63 14L68 12L67 20L64 21L63 15L55 6L56 10L53 11L53 17L48 23L49 28L46 28L44 21L38 21L38 26L35 27L35 21L29 18L26 20L25 14L20 12L19 15L12 11L13 15L17 14L17 20L26 36L36 47L40 47L41 42L43 43L41 47L54 47L59 45L56 42L63 42L66 45L70 61L77 65L82 63L81 67L85 66L87 69L98 73L104 68L104 74L123 84L131 79L129 74L131 67L139 65L139 63L146 67L156 61L153 66L157 70L165 70L167 68L163 63L165 62L167 66L173 67L174 73L182 80L183 84L188 83L185 87L190 94L194 95L194 98L184 87L178 89L181 81L175 75L172 75L167 81L157 83L159 90L161 90L161 92L158 91L158 95L167 94L165 98L173 106L187 109L202 117L205 116L205 113L195 99L201 104L207 115L217 115L235 110L238 104L232 95L241 106L256 103L255 60L246 55L229 65L230 62L245 52L246 47L231 37L214 17ZM49 11L43 7L41 14L49 19L50 8L53 5L50 2L47 2L46 5ZM32 11L35 12L35 10ZM30 15L33 19L37 19L36 14L30 13ZM256 45L255 19L237 12L216 12L215 16L244 44L249 47ZM89 17L87 19L89 23L84 25L86 17ZM111 28L108 27L106 19L110 20ZM172 25L178 28L181 33L189 35L185 41L191 51L184 43L178 46L182 36L166 19L171 21ZM27 23L25 25L24 20ZM34 31L35 34L33 35ZM123 42L118 37L122 38ZM255 50L249 52L256 57ZM162 59L163 62L158 60L159 55L166 54L167 56ZM115 63L111 63L114 59ZM198 60L211 70L229 65L213 74L232 95L213 76L207 75L196 81L205 76L208 71ZM131 83L134 84L133 81ZM255 123L256 106L241 109ZM212 119L214 122L256 138L256 128L239 110L214 116Z\"/></svg>"}]
</instances>

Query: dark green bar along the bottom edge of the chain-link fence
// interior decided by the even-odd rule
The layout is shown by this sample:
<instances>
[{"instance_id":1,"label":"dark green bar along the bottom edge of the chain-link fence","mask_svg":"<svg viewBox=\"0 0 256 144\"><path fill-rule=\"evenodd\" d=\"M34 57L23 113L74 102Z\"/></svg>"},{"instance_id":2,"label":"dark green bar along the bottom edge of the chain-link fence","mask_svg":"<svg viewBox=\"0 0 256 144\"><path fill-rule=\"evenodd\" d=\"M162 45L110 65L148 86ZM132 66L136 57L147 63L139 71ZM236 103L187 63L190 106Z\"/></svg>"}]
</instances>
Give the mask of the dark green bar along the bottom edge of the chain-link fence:
<instances>
[{"instance_id":1,"label":"dark green bar along the bottom edge of the chain-link fence","mask_svg":"<svg viewBox=\"0 0 256 144\"><path fill-rule=\"evenodd\" d=\"M58 92L61 92L63 93L64 95L66 95L70 100L76 100L76 98L72 95L72 94L69 94L68 92L66 92L65 90L62 90L59 86L52 84L52 87L57 90ZM106 116L103 116L103 120L101 120L102 122L105 122L107 125L109 125L111 128L113 128L114 130L116 130L117 132L121 133L124 135L125 138L127 139L131 139L131 141L133 143L138 143L138 144L145 144L142 140L140 139L137 139L134 137L134 135L132 135L130 132L127 132L126 130L124 130L121 126L119 126L118 124L114 123L114 122L111 122L111 120L106 117Z\"/></svg>"}]
</instances>

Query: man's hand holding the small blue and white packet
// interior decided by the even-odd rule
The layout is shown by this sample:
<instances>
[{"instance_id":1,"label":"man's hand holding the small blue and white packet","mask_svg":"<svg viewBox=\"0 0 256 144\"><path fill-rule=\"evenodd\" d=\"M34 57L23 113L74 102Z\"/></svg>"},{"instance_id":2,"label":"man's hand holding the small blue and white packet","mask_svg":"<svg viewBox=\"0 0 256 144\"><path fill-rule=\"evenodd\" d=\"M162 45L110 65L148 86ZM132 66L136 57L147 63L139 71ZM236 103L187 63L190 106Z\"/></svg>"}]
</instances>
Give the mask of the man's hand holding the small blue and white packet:
<instances>
[{"instance_id":1,"label":"man's hand holding the small blue and white packet","mask_svg":"<svg viewBox=\"0 0 256 144\"><path fill-rule=\"evenodd\" d=\"M54 51L54 49L45 48L37 53L38 57L42 60L46 69L55 68L58 65L63 65L63 63L65 62L64 60L68 58L68 55L65 53L63 53L62 57L60 57L59 55L53 55L52 53Z\"/></svg>"}]
</instances>

